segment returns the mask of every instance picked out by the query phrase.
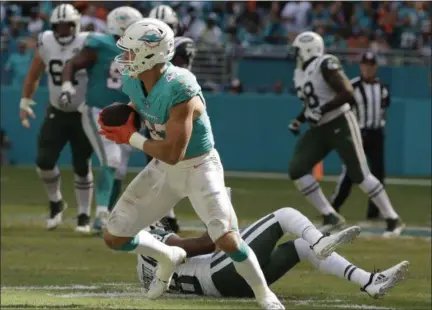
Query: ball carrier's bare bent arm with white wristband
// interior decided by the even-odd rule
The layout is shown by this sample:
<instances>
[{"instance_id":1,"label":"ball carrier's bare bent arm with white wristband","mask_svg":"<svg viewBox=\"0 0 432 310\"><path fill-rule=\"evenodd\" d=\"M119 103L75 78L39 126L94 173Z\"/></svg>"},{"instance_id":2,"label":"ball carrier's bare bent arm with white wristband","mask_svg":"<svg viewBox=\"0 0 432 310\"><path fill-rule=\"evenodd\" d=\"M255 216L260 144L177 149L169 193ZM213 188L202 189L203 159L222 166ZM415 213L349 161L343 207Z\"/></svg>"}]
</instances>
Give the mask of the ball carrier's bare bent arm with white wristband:
<instances>
[{"instance_id":1,"label":"ball carrier's bare bent arm with white wristband","mask_svg":"<svg viewBox=\"0 0 432 310\"><path fill-rule=\"evenodd\" d=\"M195 96L173 106L166 123L164 140L149 140L134 133L129 143L167 164L177 164L184 159L192 135L194 112L202 104L200 97Z\"/></svg>"}]
</instances>

